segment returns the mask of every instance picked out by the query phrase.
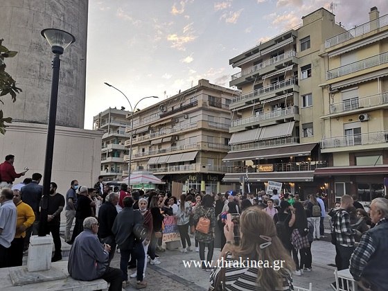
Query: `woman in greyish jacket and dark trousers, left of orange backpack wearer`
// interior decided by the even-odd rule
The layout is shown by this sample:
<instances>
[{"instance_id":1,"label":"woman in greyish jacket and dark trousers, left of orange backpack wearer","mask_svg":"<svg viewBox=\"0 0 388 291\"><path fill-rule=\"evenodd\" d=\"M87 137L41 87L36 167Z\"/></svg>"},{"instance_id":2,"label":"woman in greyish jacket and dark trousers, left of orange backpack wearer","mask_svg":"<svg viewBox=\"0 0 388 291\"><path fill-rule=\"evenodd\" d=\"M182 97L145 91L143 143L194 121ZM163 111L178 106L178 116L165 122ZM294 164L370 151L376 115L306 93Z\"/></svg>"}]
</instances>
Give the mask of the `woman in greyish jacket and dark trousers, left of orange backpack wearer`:
<instances>
[{"instance_id":1,"label":"woman in greyish jacket and dark trousers, left of orange backpack wearer","mask_svg":"<svg viewBox=\"0 0 388 291\"><path fill-rule=\"evenodd\" d=\"M190 236L188 235L188 223L190 222L191 207L186 202L186 195L182 194L180 199L179 208L177 214L177 228L179 235L181 236L182 247L179 247L179 252L186 253L187 251L193 251L191 247ZM186 249L187 242L187 249Z\"/></svg>"}]
</instances>

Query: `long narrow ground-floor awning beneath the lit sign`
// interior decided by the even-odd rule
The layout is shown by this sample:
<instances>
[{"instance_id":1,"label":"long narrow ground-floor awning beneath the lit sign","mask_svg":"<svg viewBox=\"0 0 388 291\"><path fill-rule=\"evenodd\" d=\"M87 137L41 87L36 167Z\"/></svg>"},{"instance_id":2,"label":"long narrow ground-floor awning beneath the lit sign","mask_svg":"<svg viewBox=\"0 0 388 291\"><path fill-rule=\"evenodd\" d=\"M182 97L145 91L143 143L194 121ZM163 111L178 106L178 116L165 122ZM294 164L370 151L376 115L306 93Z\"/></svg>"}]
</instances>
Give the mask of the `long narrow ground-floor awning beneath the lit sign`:
<instances>
[{"instance_id":1,"label":"long narrow ground-floor awning beneath the lit sign","mask_svg":"<svg viewBox=\"0 0 388 291\"><path fill-rule=\"evenodd\" d=\"M223 182L240 182L240 177L246 177L245 173L225 174ZM298 172L271 172L271 173L249 173L249 182L312 182L314 179L314 171L298 171Z\"/></svg>"}]
</instances>

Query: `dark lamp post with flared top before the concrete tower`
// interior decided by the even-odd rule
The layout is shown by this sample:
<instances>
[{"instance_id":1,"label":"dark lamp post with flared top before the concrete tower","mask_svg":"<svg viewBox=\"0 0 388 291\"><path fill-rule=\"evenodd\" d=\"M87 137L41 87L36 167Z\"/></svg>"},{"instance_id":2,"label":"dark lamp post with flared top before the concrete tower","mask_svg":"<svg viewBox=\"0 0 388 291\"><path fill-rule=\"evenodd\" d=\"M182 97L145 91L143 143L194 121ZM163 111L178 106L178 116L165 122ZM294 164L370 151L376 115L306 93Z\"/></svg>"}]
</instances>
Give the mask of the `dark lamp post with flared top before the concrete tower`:
<instances>
[{"instance_id":1,"label":"dark lamp post with flared top before the concrete tower","mask_svg":"<svg viewBox=\"0 0 388 291\"><path fill-rule=\"evenodd\" d=\"M51 51L55 54L53 59L50 108L48 111L46 159L44 159L43 173L43 196L38 231L38 236L46 236L48 195L50 193L51 171L53 169L55 121L57 118L58 85L60 81L60 55L62 55L65 48L76 41L76 38L64 30L55 28L44 29L41 34L47 39L48 44L51 46Z\"/></svg>"}]
</instances>

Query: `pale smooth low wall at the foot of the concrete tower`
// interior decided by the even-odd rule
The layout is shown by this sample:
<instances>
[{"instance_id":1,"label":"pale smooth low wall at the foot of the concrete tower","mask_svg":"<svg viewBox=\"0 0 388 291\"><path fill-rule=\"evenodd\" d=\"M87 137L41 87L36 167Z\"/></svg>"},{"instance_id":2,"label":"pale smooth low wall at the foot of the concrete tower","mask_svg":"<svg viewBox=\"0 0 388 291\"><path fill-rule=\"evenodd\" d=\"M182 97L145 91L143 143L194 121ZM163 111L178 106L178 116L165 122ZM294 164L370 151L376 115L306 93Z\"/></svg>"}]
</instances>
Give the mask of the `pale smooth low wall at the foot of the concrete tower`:
<instances>
[{"instance_id":1,"label":"pale smooth low wall at the foot of the concrete tower","mask_svg":"<svg viewBox=\"0 0 388 291\"><path fill-rule=\"evenodd\" d=\"M58 184L58 193L65 195L73 179L88 187L97 182L100 175L102 134L103 132L93 130L56 127L51 181ZM17 173L22 172L26 166L30 168L15 183L23 182L25 177L31 177L33 173L43 175L46 136L46 125L32 123L15 123L7 127L6 135L0 134L1 161L6 155L15 155L14 166Z\"/></svg>"}]
</instances>

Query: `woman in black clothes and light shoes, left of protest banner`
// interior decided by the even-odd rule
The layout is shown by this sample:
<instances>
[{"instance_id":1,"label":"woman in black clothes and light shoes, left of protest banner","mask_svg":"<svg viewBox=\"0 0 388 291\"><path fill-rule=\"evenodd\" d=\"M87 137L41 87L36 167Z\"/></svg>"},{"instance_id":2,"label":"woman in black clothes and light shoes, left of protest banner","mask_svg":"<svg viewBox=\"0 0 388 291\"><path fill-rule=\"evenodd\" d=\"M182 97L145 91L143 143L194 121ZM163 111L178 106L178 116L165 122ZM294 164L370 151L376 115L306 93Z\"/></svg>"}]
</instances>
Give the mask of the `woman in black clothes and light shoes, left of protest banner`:
<instances>
[{"instance_id":1,"label":"woman in black clothes and light shoes, left of protest banner","mask_svg":"<svg viewBox=\"0 0 388 291\"><path fill-rule=\"evenodd\" d=\"M150 194L151 197L152 193ZM158 238L155 233L161 233L161 222L164 220L164 215L160 213L159 209L159 197L157 195L152 195L152 198L150 201L148 201L150 204L150 211L152 214L152 233L151 233L151 240L150 240L150 246L149 248L149 254L150 254L150 264L151 265L159 265L161 262L159 259L155 256L155 252L157 249L157 241Z\"/></svg>"}]
</instances>

